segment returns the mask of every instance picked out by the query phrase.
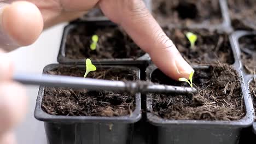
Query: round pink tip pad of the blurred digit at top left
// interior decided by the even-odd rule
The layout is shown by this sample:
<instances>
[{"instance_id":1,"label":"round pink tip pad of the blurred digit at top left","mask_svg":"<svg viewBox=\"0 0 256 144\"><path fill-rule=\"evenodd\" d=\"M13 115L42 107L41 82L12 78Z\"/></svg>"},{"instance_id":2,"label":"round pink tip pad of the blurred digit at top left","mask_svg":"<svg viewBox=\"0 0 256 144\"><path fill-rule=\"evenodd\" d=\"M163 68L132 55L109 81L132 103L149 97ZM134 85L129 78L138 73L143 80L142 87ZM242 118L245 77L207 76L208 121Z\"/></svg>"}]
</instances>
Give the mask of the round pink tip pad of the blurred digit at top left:
<instances>
[{"instance_id":1,"label":"round pink tip pad of the blurred digit at top left","mask_svg":"<svg viewBox=\"0 0 256 144\"><path fill-rule=\"evenodd\" d=\"M43 17L36 5L18 1L2 11L5 32L20 46L34 43L43 31Z\"/></svg>"}]
</instances>

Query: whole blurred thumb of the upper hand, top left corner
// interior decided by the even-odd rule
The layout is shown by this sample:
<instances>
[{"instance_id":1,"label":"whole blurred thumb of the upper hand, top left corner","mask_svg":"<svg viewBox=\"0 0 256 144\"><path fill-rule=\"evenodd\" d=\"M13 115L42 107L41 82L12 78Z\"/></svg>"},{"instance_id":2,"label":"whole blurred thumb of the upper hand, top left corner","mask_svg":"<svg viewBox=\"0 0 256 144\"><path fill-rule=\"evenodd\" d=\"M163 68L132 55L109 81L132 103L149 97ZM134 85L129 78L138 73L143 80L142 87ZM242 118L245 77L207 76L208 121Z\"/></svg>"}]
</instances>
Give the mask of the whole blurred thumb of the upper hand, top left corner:
<instances>
[{"instance_id":1,"label":"whole blurred thumb of the upper hand, top left corner","mask_svg":"<svg viewBox=\"0 0 256 144\"><path fill-rule=\"evenodd\" d=\"M32 44L43 30L43 18L36 5L18 1L0 2L0 47L9 52Z\"/></svg>"}]
</instances>

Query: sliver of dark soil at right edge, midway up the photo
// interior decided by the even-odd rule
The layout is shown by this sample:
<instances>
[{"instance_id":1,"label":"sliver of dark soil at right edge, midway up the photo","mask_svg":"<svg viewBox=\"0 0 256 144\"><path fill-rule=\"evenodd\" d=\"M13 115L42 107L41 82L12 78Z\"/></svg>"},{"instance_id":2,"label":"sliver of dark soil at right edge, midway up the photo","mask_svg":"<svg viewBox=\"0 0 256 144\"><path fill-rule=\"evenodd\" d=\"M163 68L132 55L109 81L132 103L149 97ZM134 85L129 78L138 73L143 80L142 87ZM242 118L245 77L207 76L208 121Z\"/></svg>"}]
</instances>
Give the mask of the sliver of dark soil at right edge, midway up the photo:
<instances>
[{"instance_id":1,"label":"sliver of dark soil at right edge, midway up the photo","mask_svg":"<svg viewBox=\"0 0 256 144\"><path fill-rule=\"evenodd\" d=\"M248 74L256 73L256 36L246 36L239 39L243 68Z\"/></svg>"}]
</instances>

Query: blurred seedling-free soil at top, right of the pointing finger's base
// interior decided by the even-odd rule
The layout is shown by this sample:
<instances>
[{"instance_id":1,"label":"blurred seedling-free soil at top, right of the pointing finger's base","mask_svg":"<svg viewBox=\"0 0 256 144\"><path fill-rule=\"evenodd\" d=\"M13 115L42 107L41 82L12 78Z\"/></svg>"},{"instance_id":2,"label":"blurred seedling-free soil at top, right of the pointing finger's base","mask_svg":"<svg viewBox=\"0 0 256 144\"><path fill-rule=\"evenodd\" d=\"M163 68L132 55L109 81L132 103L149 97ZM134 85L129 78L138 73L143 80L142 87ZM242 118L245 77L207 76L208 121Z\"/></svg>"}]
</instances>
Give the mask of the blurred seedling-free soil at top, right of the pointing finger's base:
<instances>
[{"instance_id":1,"label":"blurred seedling-free soil at top, right of the pointing finger's base","mask_svg":"<svg viewBox=\"0 0 256 144\"><path fill-rule=\"evenodd\" d=\"M218 0L153 0L153 15L163 25L207 22L219 24L222 11Z\"/></svg>"}]
</instances>

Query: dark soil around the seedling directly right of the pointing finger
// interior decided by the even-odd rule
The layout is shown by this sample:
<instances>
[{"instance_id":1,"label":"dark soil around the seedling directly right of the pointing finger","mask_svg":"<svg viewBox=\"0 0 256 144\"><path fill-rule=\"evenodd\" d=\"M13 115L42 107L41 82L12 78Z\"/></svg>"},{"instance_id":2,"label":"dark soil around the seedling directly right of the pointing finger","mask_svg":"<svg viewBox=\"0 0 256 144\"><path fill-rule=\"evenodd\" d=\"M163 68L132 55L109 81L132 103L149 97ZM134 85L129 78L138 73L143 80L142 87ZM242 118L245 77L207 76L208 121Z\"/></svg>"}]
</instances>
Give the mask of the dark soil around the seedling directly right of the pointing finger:
<instances>
[{"instance_id":1,"label":"dark soil around the seedling directly right of the pointing finger","mask_svg":"<svg viewBox=\"0 0 256 144\"><path fill-rule=\"evenodd\" d=\"M189 63L210 64L216 63L234 63L234 56L229 42L229 35L219 34L216 31L210 32L205 29L171 29L164 28L167 36L176 45L179 52ZM197 35L195 48L190 48L190 42L185 33L193 32Z\"/></svg>"}]
</instances>

